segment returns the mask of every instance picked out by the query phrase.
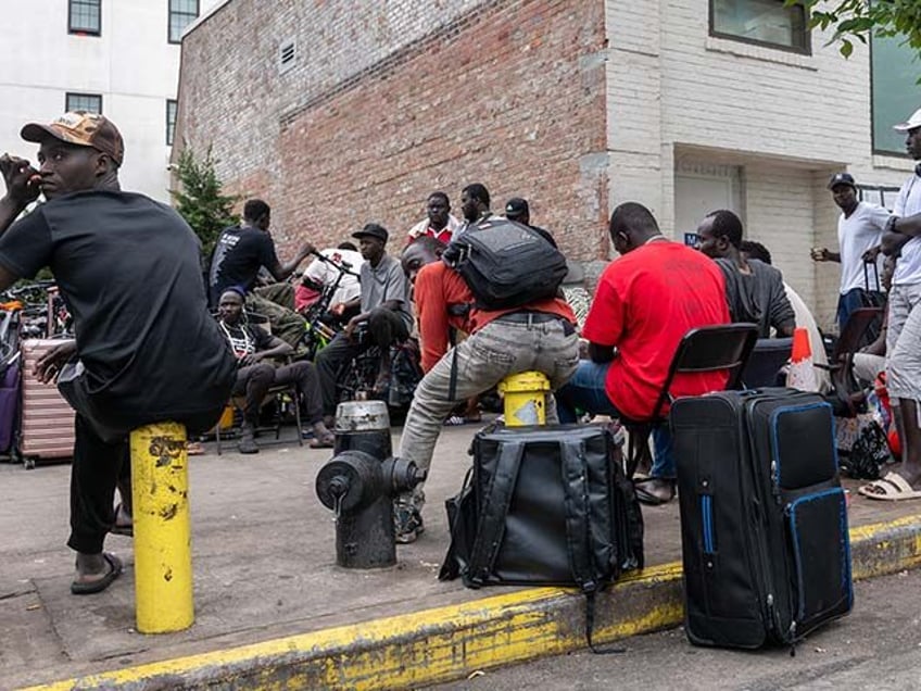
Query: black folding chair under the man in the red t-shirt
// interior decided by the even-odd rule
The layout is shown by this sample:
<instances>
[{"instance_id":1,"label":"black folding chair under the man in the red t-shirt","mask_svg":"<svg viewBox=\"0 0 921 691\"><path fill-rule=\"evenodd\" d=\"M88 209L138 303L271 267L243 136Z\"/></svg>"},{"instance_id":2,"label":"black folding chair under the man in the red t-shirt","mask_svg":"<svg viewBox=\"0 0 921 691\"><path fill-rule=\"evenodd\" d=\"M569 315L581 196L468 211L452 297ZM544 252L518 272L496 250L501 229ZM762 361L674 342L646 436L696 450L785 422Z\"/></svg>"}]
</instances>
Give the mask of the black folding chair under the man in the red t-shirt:
<instances>
[{"instance_id":1,"label":"black folding chair under the man in the red t-shirt","mask_svg":"<svg viewBox=\"0 0 921 691\"><path fill-rule=\"evenodd\" d=\"M671 359L653 414L645 420L621 418L630 437L624 462L627 477L632 478L641 463L652 465L649 435L653 428L666 422L660 415L666 402L672 400L669 389L674 376L726 370L729 374L726 389L739 388L742 369L757 339L758 327L755 324L702 326L684 335Z\"/></svg>"}]
</instances>

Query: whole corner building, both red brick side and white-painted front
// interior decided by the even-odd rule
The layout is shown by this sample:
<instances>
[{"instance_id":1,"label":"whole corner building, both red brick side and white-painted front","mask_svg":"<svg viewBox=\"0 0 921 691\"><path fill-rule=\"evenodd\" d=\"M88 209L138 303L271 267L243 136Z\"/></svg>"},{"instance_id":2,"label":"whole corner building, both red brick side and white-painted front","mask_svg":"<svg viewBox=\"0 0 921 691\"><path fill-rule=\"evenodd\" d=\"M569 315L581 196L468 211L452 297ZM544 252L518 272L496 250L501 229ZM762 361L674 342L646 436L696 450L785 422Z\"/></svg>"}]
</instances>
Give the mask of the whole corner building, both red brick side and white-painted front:
<instances>
[{"instance_id":1,"label":"whole corner building, both red brick side and white-painted front","mask_svg":"<svg viewBox=\"0 0 921 691\"><path fill-rule=\"evenodd\" d=\"M837 269L809 259L836 242L829 176L869 193L911 162L875 143L881 66L828 39L780 0L226 0L187 33L177 128L291 248L402 236L429 191L457 208L481 181L591 274L617 203L678 239L729 208L829 326Z\"/></svg>"}]
</instances>

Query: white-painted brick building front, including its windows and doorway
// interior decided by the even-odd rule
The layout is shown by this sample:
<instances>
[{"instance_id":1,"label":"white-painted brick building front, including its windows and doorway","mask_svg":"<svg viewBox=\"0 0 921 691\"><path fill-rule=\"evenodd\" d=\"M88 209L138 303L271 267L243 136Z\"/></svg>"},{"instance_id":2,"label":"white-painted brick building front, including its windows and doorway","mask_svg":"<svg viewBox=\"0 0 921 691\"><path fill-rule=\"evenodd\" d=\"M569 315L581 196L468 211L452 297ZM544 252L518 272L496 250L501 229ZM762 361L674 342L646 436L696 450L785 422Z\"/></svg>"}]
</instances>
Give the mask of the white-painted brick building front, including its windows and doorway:
<instances>
[{"instance_id":1,"label":"white-painted brick building front, including its windows and doorway","mask_svg":"<svg viewBox=\"0 0 921 691\"><path fill-rule=\"evenodd\" d=\"M809 248L837 249L827 189L850 172L891 208L914 163L892 129L921 106L899 39L858 43L849 60L779 0L606 2L611 205L641 199L677 239L711 210L735 211L746 238L823 327L834 322L840 269Z\"/></svg>"}]
</instances>

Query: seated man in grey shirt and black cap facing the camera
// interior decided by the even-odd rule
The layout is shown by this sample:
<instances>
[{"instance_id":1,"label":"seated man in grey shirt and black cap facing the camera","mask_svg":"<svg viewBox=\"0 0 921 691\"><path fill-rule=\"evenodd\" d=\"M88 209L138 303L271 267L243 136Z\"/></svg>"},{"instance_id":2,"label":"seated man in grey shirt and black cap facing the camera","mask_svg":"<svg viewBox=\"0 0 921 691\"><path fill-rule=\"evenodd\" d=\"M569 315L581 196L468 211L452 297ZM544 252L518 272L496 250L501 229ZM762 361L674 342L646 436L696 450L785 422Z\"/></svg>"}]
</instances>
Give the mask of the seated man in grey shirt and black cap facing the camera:
<instances>
[{"instance_id":1,"label":"seated man in grey shirt and black cap facing the camera","mask_svg":"<svg viewBox=\"0 0 921 691\"><path fill-rule=\"evenodd\" d=\"M358 249L365 263L358 281L362 296L345 303L345 309L361 305L361 313L349 319L344 330L319 351L316 359L323 409L327 418L336 414L336 381L340 370L353 357L371 346L380 348L380 369L375 381L375 392L381 393L390 382L390 346L409 337L413 312L409 305L409 284L400 262L384 250L387 228L369 223L357 233ZM367 324L370 338L358 339L355 329Z\"/></svg>"}]
</instances>

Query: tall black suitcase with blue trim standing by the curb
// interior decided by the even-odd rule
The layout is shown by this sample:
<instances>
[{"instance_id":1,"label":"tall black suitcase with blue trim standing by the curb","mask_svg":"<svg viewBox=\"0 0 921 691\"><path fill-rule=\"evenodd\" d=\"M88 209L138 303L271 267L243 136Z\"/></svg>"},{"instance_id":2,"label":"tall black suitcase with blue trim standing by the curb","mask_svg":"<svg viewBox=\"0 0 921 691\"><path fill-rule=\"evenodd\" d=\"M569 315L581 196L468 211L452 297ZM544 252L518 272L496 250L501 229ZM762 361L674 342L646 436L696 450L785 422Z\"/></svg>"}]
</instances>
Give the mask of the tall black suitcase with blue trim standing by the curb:
<instances>
[{"instance_id":1,"label":"tall black suitcase with blue trim standing by the curb","mask_svg":"<svg viewBox=\"0 0 921 691\"><path fill-rule=\"evenodd\" d=\"M793 646L853 604L831 406L792 389L671 407L692 643Z\"/></svg>"}]
</instances>

